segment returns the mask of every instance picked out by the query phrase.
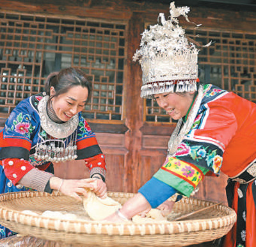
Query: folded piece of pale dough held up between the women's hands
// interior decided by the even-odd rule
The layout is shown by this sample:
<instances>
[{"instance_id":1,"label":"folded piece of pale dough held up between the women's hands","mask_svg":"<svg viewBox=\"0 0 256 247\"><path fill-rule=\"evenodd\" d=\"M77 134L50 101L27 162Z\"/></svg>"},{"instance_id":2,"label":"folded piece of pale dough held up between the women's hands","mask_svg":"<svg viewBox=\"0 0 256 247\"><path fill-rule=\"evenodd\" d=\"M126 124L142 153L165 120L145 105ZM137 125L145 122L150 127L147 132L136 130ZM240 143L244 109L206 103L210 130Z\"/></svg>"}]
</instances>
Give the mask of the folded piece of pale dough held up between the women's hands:
<instances>
[{"instance_id":1,"label":"folded piece of pale dough held up between the women's hands","mask_svg":"<svg viewBox=\"0 0 256 247\"><path fill-rule=\"evenodd\" d=\"M102 220L122 207L119 202L110 197L99 198L92 191L88 191L88 197L84 198L83 203L84 210L94 220Z\"/></svg>"}]
</instances>

